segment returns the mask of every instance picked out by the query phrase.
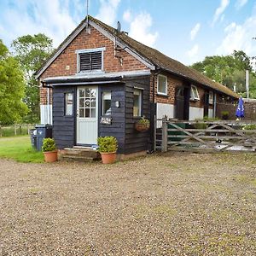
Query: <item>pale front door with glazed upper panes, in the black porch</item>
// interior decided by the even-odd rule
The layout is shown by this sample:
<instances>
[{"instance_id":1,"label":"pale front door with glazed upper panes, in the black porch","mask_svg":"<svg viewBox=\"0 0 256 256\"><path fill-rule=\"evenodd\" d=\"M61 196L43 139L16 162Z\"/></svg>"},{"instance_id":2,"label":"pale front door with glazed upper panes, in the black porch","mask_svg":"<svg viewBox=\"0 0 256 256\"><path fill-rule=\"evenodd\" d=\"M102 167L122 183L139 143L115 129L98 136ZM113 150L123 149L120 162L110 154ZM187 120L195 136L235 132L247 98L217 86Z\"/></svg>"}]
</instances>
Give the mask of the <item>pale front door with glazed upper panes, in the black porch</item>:
<instances>
[{"instance_id":1,"label":"pale front door with glazed upper panes, in the black porch","mask_svg":"<svg viewBox=\"0 0 256 256\"><path fill-rule=\"evenodd\" d=\"M77 143L96 144L98 135L96 86L78 87L77 96Z\"/></svg>"}]
</instances>

